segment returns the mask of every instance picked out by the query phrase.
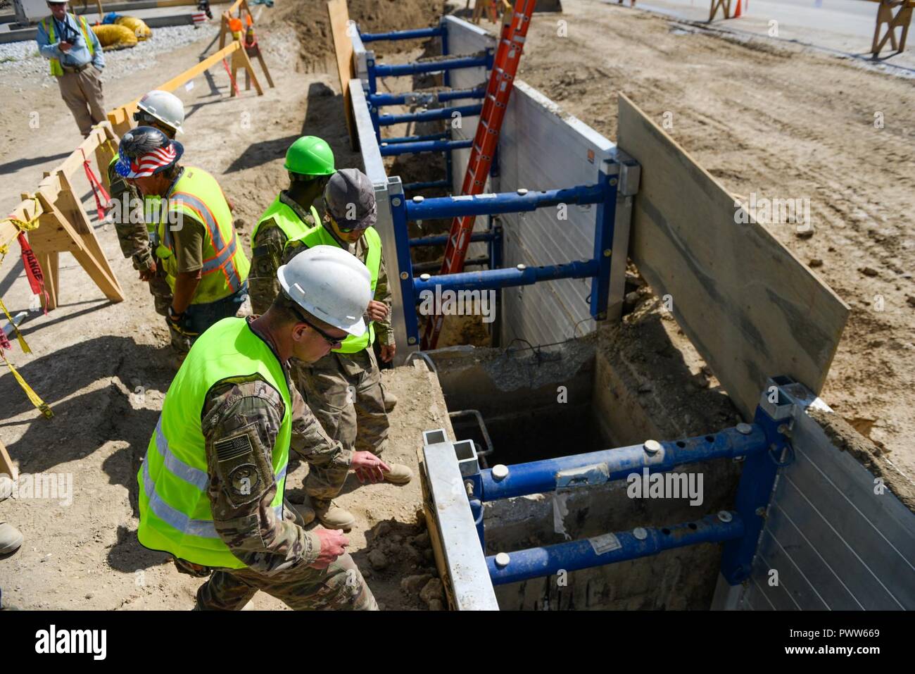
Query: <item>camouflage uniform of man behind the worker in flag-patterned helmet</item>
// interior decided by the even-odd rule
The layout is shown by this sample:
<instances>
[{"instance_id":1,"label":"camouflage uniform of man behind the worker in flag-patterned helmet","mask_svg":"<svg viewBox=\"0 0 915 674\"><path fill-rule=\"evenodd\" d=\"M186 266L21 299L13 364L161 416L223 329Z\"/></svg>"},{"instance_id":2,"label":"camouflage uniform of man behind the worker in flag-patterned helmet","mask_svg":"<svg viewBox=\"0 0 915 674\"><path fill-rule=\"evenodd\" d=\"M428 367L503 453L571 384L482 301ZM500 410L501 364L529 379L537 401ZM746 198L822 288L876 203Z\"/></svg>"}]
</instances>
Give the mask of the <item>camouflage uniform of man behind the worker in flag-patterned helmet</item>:
<instances>
[{"instance_id":1,"label":"camouflage uniform of man behind the worker in flag-patterned helmet","mask_svg":"<svg viewBox=\"0 0 915 674\"><path fill-rule=\"evenodd\" d=\"M135 205L133 211L122 210L120 222L114 223L114 231L117 233L118 243L121 244L121 251L124 257L130 257L134 261L134 268L138 271L144 271L153 265L156 261L156 254L149 242L149 232L146 229L145 213L142 206L144 203L140 193L135 187L129 185L124 178L118 175L114 170L112 162L108 165L108 182L111 185L112 201L124 203L126 198L128 205ZM156 313L161 316L167 316L168 307L171 306L172 292L166 282L165 270L161 265L156 266L156 276L149 281L149 292L156 303ZM175 335L173 335L174 340ZM187 351L187 349L185 349Z\"/></svg>"}]
</instances>

